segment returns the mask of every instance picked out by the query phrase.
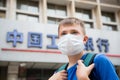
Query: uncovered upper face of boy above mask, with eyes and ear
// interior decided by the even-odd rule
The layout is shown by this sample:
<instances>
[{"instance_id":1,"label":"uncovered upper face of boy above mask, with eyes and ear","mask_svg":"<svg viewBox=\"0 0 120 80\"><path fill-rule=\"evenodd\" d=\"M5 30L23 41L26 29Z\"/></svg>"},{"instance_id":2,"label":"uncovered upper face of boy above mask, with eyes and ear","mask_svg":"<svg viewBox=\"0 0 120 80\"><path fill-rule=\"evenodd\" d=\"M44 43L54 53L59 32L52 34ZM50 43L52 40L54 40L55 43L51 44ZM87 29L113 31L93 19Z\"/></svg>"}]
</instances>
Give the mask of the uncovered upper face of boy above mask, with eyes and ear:
<instances>
[{"instance_id":1,"label":"uncovered upper face of boy above mask, with eyes and ear","mask_svg":"<svg viewBox=\"0 0 120 80\"><path fill-rule=\"evenodd\" d=\"M60 29L58 32L59 38L67 34L82 36L84 43L86 43L88 40L88 37L84 35L82 27L80 25L60 26Z\"/></svg>"}]
</instances>

